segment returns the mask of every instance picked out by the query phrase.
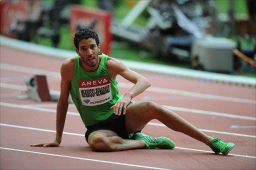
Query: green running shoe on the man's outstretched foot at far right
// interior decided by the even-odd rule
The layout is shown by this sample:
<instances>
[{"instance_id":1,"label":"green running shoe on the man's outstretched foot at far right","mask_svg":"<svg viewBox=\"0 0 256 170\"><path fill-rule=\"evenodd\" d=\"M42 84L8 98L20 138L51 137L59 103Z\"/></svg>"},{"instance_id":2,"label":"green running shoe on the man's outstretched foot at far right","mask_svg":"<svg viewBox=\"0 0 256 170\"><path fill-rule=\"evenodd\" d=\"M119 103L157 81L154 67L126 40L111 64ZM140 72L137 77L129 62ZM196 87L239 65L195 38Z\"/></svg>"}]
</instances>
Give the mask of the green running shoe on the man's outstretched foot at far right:
<instances>
[{"instance_id":1,"label":"green running shoe on the man's outstretched foot at far right","mask_svg":"<svg viewBox=\"0 0 256 170\"><path fill-rule=\"evenodd\" d=\"M210 141L209 144L210 144L210 148L215 153L221 152L224 155L226 155L234 147L234 143L231 143L231 142L225 143L222 139L215 138L215 137L212 137L212 140Z\"/></svg>"}]
</instances>

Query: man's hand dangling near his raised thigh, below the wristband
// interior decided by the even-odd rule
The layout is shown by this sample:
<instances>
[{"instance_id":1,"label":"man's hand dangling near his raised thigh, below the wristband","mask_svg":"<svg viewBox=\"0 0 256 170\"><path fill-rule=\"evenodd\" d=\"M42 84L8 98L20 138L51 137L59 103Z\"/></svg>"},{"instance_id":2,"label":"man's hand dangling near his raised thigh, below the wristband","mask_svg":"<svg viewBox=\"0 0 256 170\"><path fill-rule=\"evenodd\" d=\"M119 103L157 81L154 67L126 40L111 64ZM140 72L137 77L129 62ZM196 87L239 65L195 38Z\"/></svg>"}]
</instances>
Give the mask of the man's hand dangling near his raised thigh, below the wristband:
<instances>
[{"instance_id":1,"label":"man's hand dangling near his raised thigh, below the wristband","mask_svg":"<svg viewBox=\"0 0 256 170\"><path fill-rule=\"evenodd\" d=\"M124 115L126 112L126 106L130 102L130 99L131 96L129 94L125 94L122 99L111 106L110 109L113 109L114 114L116 115L121 115L121 113Z\"/></svg>"}]
</instances>

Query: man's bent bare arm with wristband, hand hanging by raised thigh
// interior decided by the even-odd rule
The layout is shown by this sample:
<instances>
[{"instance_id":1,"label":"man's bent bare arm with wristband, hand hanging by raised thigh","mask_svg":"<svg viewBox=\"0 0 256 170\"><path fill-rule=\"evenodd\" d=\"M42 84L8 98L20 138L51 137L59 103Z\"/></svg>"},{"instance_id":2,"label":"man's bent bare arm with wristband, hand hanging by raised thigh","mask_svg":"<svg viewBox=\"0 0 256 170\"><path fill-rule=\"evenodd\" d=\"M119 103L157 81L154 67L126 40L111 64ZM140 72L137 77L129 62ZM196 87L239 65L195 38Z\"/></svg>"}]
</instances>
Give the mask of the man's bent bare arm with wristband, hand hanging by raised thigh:
<instances>
[{"instance_id":1,"label":"man's bent bare arm with wristband, hand hanging by raised thigh","mask_svg":"<svg viewBox=\"0 0 256 170\"><path fill-rule=\"evenodd\" d=\"M121 110L123 110L122 113L125 114L126 106L130 102L131 98L142 93L146 88L148 88L150 86L150 82L144 76L130 70L124 63L117 59L110 58L107 62L107 67L112 76L119 74L128 81L134 83L134 86L125 93L122 99L110 107L116 115L121 115Z\"/></svg>"}]
</instances>

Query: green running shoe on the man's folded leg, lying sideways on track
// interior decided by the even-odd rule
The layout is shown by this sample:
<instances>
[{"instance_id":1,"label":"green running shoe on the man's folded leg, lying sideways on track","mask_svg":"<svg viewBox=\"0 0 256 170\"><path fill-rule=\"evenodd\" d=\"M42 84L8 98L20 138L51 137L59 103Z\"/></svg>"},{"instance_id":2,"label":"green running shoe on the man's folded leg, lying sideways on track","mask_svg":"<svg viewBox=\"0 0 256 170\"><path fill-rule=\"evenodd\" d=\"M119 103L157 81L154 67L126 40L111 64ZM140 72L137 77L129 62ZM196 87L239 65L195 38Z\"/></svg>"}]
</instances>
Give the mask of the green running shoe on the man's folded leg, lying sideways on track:
<instances>
[{"instance_id":1,"label":"green running shoe on the man's folded leg, lying sideways on track","mask_svg":"<svg viewBox=\"0 0 256 170\"><path fill-rule=\"evenodd\" d=\"M144 133L135 133L132 137L135 140L144 140L146 143L146 148L161 148L161 149L172 149L175 147L175 143L168 139L167 137L151 137Z\"/></svg>"}]
</instances>

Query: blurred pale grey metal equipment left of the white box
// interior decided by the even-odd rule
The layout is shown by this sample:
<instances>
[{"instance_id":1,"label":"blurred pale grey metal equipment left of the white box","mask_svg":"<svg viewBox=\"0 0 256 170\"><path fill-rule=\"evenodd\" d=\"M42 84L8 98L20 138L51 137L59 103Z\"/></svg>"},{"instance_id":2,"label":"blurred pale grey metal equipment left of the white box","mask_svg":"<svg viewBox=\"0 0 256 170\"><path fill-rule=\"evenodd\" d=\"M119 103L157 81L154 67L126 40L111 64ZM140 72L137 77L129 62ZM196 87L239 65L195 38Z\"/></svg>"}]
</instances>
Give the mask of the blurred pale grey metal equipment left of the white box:
<instances>
[{"instance_id":1,"label":"blurred pale grey metal equipment left of the white box","mask_svg":"<svg viewBox=\"0 0 256 170\"><path fill-rule=\"evenodd\" d=\"M153 49L164 59L177 61L180 57L190 62L192 42L205 36L206 22L210 21L210 14L203 11L205 6L210 8L208 0L141 0L122 21L113 20L112 33L145 49ZM150 14L147 25L131 25L144 9Z\"/></svg>"}]
</instances>

